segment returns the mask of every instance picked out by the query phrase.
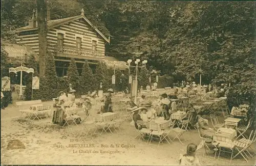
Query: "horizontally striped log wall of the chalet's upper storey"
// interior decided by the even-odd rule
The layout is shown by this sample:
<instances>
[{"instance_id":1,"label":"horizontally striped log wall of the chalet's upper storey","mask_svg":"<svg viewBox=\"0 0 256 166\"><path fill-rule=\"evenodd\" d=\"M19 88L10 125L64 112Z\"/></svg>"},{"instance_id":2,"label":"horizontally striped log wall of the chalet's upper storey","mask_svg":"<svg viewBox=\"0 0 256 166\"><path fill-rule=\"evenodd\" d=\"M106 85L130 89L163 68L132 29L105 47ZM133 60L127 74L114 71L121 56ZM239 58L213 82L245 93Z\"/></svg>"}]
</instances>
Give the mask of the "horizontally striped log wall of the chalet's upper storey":
<instances>
[{"instance_id":1,"label":"horizontally striped log wall of the chalet's upper storey","mask_svg":"<svg viewBox=\"0 0 256 166\"><path fill-rule=\"evenodd\" d=\"M58 34L63 37L59 45ZM37 29L23 31L19 35L21 39L17 39L17 42L30 46L38 54ZM79 41L80 45L77 43ZM51 28L47 32L47 42L48 50L56 52L57 57L97 60L105 55L105 41L82 19Z\"/></svg>"}]
</instances>

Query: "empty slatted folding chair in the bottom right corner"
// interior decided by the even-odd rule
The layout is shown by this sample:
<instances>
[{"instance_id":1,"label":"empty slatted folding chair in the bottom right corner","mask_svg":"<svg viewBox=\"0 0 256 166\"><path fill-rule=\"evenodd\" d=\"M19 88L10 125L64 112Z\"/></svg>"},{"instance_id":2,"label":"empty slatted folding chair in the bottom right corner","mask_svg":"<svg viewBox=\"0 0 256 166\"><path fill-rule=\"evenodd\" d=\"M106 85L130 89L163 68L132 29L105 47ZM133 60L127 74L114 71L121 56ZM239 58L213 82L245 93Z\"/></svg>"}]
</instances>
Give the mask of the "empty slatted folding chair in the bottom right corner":
<instances>
[{"instance_id":1,"label":"empty slatted folding chair in the bottom right corner","mask_svg":"<svg viewBox=\"0 0 256 166\"><path fill-rule=\"evenodd\" d=\"M247 156L247 154L245 152L247 152L251 157L253 157L250 154L250 152L247 150L251 146L251 144L253 143L253 140L255 138L255 131L254 131L253 136L252 136L252 133L253 133L253 130L251 131L248 140L247 139L241 139L239 141L237 141L237 140L234 141L234 145L235 145L234 148L236 148L236 150L238 150L238 153L236 155L234 155L233 158L238 156L239 154L241 154L244 157L244 159L246 160L246 162L248 162L247 158L249 158L249 157ZM251 139L251 137L252 137L252 139Z\"/></svg>"}]
</instances>

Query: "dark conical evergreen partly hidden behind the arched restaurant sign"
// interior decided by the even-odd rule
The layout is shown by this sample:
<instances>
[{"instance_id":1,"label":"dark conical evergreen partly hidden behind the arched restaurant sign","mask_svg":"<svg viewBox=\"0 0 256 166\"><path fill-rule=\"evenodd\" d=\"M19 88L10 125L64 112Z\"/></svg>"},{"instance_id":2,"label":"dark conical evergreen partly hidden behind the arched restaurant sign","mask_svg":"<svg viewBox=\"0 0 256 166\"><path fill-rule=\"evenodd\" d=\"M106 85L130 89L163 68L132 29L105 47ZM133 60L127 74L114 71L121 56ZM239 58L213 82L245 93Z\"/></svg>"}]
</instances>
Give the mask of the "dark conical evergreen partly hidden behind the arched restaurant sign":
<instances>
[{"instance_id":1,"label":"dark conical evergreen partly hidden behind the arched restaurant sign","mask_svg":"<svg viewBox=\"0 0 256 166\"><path fill-rule=\"evenodd\" d=\"M34 69L34 73L28 73L25 76L26 89L24 92L25 100L32 100L32 75L39 76L37 72L37 64L35 62L34 54L30 54L26 67Z\"/></svg>"}]
</instances>

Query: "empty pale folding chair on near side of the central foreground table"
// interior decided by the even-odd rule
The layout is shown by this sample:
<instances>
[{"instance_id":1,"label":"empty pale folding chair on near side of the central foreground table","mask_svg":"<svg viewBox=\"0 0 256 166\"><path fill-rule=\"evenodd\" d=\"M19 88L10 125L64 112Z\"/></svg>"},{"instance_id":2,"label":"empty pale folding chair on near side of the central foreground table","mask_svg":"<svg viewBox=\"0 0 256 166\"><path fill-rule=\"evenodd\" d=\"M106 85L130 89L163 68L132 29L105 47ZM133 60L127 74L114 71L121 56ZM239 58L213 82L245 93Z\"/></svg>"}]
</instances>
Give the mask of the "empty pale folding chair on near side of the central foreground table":
<instances>
[{"instance_id":1,"label":"empty pale folding chair on near side of the central foreground table","mask_svg":"<svg viewBox=\"0 0 256 166\"><path fill-rule=\"evenodd\" d=\"M152 130L152 132L150 133L150 137L151 137L150 144L154 136L157 136L156 139L159 140L158 146L160 142L163 143L163 140L166 140L169 145L170 145L169 141L173 142L168 136L170 130L165 130L165 129L161 130L160 126L155 122L149 123L149 129Z\"/></svg>"}]
</instances>

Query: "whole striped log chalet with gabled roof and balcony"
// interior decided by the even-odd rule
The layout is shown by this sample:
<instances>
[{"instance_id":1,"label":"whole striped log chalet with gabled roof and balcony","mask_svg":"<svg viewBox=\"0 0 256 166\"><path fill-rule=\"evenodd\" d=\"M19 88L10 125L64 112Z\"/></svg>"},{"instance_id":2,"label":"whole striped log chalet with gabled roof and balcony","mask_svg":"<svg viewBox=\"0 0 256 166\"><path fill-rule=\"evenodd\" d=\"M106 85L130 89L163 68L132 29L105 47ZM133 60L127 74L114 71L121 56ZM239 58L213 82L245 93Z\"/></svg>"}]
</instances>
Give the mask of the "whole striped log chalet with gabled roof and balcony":
<instances>
[{"instance_id":1,"label":"whole striped log chalet with gabled roof and balcony","mask_svg":"<svg viewBox=\"0 0 256 166\"><path fill-rule=\"evenodd\" d=\"M39 53L38 29L35 12L29 20L28 26L20 27L16 31L20 37L17 43L30 46ZM58 76L67 75L71 58L75 58L79 74L85 60L89 62L93 72L97 63L105 62L110 67L121 70L128 68L125 62L119 62L113 57L105 56L105 45L110 43L85 16L81 14L74 17L47 21L47 49L54 54L56 73Z\"/></svg>"}]
</instances>

